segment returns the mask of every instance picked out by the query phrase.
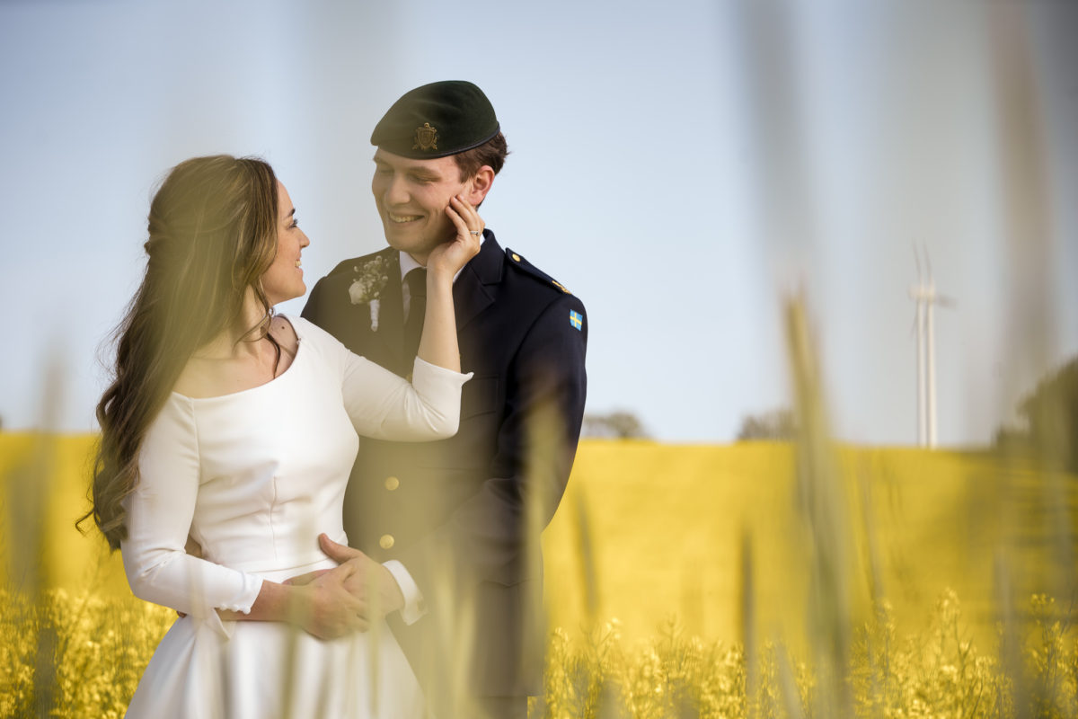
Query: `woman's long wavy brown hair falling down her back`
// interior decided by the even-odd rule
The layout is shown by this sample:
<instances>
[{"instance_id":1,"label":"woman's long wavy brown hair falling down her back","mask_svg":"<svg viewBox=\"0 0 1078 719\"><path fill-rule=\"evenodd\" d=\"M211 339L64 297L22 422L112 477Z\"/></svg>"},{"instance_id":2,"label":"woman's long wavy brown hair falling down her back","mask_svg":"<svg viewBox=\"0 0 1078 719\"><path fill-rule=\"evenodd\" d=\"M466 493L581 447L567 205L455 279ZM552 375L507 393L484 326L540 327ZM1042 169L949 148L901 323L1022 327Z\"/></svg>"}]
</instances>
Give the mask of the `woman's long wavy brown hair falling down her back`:
<instances>
[{"instance_id":1,"label":"woman's long wavy brown hair falling down her back","mask_svg":"<svg viewBox=\"0 0 1078 719\"><path fill-rule=\"evenodd\" d=\"M113 333L114 376L97 404L93 507L78 522L93 517L113 550L126 537L142 440L191 356L223 332L268 336L261 278L277 252L277 205L273 168L229 155L180 163L153 197L146 274ZM265 308L255 327L243 327L249 290Z\"/></svg>"}]
</instances>

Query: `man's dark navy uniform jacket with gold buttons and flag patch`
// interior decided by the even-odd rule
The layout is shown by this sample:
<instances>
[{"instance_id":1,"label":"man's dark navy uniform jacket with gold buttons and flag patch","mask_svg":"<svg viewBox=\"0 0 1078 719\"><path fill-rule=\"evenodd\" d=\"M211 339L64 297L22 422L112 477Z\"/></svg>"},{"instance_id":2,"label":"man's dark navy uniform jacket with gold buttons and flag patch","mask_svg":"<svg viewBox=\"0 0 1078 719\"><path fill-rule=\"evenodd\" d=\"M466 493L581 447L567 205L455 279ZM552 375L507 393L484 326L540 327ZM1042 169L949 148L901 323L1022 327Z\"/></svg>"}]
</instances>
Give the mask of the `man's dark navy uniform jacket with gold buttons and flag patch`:
<instances>
[{"instance_id":1,"label":"man's dark navy uniform jacket with gold buttons and flag patch","mask_svg":"<svg viewBox=\"0 0 1078 719\"><path fill-rule=\"evenodd\" d=\"M349 288L382 258L377 329ZM580 435L586 378L583 304L484 232L453 287L462 372L453 438L361 438L345 497L349 543L399 559L426 604L393 633L434 710L446 693L541 693L544 627L539 533L565 490ZM409 376L397 250L346 260L318 281L303 317L350 350ZM470 666L467 686L448 676ZM442 699L438 699L442 697Z\"/></svg>"}]
</instances>

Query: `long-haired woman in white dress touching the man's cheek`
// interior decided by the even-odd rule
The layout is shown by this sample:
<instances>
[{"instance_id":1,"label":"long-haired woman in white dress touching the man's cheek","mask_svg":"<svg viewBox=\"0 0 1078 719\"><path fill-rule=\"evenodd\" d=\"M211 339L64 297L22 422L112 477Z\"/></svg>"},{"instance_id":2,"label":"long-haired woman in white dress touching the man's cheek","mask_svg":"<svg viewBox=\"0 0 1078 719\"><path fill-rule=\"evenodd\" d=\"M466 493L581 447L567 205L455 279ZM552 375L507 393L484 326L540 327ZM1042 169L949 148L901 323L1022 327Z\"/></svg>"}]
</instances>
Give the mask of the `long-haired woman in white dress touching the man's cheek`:
<instances>
[{"instance_id":1,"label":"long-haired woman in white dress touching the man's cheek","mask_svg":"<svg viewBox=\"0 0 1078 719\"><path fill-rule=\"evenodd\" d=\"M185 614L128 717L423 716L385 621L317 537L347 541L357 432L456 432L471 375L460 374L452 281L479 251L470 231L482 220L459 198L446 215L457 236L428 262L409 383L306 320L274 315L306 292L309 240L267 164L196 157L161 185L146 275L97 406L87 513L122 550L133 592ZM185 551L189 538L201 556ZM327 569L302 586L284 582Z\"/></svg>"}]
</instances>

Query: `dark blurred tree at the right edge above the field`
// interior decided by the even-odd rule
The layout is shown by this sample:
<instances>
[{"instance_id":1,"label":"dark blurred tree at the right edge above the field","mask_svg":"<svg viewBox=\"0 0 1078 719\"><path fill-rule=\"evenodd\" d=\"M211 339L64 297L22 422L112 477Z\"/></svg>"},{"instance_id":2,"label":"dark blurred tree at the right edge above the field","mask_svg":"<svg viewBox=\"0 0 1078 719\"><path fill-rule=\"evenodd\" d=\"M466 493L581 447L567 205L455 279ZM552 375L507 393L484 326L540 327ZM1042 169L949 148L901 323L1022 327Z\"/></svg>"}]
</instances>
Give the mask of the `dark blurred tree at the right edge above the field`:
<instances>
[{"instance_id":1,"label":"dark blurred tree at the right edge above the field","mask_svg":"<svg viewBox=\"0 0 1078 719\"><path fill-rule=\"evenodd\" d=\"M1078 473L1078 357L1048 374L1018 405L1019 427L1000 427L996 447Z\"/></svg>"}]
</instances>

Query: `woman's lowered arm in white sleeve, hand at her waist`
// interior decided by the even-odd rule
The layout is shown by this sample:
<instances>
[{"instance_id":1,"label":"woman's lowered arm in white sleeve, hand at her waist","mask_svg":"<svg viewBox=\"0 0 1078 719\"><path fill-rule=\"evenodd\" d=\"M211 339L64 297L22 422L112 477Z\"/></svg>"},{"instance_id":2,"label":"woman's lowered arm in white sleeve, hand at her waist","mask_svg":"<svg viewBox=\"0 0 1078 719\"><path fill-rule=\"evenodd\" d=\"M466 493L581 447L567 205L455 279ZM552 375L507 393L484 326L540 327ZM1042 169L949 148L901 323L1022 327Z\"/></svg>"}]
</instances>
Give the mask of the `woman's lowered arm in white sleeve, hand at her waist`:
<instances>
[{"instance_id":1,"label":"woman's lowered arm in white sleeve, hand at her waist","mask_svg":"<svg viewBox=\"0 0 1078 719\"><path fill-rule=\"evenodd\" d=\"M189 402L172 397L154 420L139 455L139 480L125 501L121 542L132 592L227 634L232 620L292 621L316 636L363 628L358 600L344 590L351 570L337 568L306 586L264 581L185 551L198 496L198 441Z\"/></svg>"}]
</instances>

